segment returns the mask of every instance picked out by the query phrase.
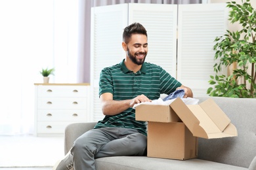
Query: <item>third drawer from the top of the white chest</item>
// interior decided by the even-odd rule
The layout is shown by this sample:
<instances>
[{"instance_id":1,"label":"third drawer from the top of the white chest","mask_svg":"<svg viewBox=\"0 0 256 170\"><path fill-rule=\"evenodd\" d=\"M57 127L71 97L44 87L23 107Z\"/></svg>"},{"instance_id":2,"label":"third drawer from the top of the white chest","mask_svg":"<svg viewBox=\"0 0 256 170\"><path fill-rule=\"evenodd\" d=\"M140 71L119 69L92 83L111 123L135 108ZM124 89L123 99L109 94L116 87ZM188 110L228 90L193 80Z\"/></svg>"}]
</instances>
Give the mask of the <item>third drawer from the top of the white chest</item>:
<instances>
[{"instance_id":1,"label":"third drawer from the top of the white chest","mask_svg":"<svg viewBox=\"0 0 256 170\"><path fill-rule=\"evenodd\" d=\"M86 120L87 110L38 110L39 122L79 122Z\"/></svg>"}]
</instances>

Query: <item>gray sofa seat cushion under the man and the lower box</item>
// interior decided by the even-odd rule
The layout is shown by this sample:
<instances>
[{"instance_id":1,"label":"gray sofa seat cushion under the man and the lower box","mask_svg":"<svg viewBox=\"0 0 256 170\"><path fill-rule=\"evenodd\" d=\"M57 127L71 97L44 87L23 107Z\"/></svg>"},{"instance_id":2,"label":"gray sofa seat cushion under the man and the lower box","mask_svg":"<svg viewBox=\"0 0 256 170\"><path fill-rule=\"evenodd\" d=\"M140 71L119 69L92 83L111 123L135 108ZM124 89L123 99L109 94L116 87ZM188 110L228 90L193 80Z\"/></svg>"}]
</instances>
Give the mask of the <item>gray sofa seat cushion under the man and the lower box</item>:
<instances>
[{"instance_id":1,"label":"gray sofa seat cushion under the man and the lower box","mask_svg":"<svg viewBox=\"0 0 256 170\"><path fill-rule=\"evenodd\" d=\"M213 161L205 161L199 159L191 160L169 160L161 158L148 158L146 156L113 156L106 158L98 158L95 161L96 169L107 170L107 169L122 169L122 170L135 170L135 169L247 169L244 167L236 167L233 165L227 165L223 163L217 163Z\"/></svg>"}]
</instances>

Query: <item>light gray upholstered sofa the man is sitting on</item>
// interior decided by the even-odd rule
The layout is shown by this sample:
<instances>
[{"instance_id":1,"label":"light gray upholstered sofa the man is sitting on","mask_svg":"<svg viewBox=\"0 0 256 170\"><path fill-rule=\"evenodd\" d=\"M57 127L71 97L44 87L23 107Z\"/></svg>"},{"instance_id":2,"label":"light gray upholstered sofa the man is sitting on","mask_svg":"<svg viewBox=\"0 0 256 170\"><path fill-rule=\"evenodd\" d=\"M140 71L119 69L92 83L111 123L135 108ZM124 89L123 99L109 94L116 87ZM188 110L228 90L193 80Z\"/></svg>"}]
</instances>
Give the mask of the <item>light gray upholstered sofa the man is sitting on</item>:
<instances>
[{"instance_id":1,"label":"light gray upholstered sofa the man is sitting on","mask_svg":"<svg viewBox=\"0 0 256 170\"><path fill-rule=\"evenodd\" d=\"M195 97L200 102L208 97ZM115 156L96 159L96 169L250 169L256 170L256 99L213 97L238 130L238 137L198 139L198 158L169 160L146 156ZM65 130L64 152L79 135L95 126L70 124ZM77 169L81 170L81 169Z\"/></svg>"}]
</instances>

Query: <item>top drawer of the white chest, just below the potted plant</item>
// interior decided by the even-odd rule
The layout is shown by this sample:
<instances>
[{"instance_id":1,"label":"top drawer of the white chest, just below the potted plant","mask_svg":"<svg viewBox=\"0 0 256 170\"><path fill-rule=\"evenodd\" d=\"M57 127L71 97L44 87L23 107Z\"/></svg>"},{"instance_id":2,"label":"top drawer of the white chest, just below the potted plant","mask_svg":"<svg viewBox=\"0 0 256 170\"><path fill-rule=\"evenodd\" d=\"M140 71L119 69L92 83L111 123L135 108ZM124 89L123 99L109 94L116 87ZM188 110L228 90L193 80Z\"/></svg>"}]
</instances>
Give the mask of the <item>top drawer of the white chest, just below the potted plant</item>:
<instances>
[{"instance_id":1,"label":"top drawer of the white chest, just below the potted plant","mask_svg":"<svg viewBox=\"0 0 256 170\"><path fill-rule=\"evenodd\" d=\"M39 86L38 97L85 97L89 86Z\"/></svg>"}]
</instances>

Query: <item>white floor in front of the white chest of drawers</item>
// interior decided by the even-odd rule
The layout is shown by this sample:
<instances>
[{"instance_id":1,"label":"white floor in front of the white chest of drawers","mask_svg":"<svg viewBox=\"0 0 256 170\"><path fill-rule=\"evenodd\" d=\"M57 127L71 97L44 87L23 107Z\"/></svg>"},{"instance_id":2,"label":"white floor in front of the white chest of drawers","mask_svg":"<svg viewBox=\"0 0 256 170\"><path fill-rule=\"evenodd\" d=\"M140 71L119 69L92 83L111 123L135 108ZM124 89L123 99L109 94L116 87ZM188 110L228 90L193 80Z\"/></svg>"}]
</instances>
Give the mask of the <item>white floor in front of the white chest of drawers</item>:
<instances>
[{"instance_id":1,"label":"white floor in front of the white chest of drawers","mask_svg":"<svg viewBox=\"0 0 256 170\"><path fill-rule=\"evenodd\" d=\"M0 170L50 170L64 156L64 137L0 135Z\"/></svg>"}]
</instances>

